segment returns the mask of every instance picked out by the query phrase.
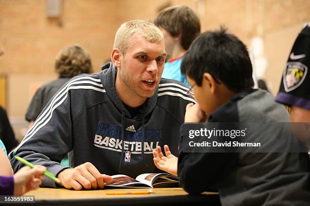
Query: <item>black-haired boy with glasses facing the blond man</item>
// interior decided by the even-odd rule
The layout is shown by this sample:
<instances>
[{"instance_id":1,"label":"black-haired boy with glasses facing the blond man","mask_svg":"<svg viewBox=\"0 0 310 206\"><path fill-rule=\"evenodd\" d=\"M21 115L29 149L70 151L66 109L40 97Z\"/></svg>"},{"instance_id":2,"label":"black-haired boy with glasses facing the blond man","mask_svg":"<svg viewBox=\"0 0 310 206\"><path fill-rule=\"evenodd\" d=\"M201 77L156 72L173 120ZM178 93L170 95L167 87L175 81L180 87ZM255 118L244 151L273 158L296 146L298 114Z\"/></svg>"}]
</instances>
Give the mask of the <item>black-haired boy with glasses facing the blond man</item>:
<instances>
[{"instance_id":1,"label":"black-haired boy with glasses facing the blond man","mask_svg":"<svg viewBox=\"0 0 310 206\"><path fill-rule=\"evenodd\" d=\"M274 101L273 95L252 89L252 65L247 48L224 28L202 33L192 43L184 56L181 72L187 76L199 104L186 107L185 122L205 122L206 113L210 114L208 122L288 121L287 112ZM266 138L273 140L277 135L258 134L255 139L258 142ZM177 174L180 186L188 193L201 193L215 186L222 205L309 204L306 153L259 150L254 153L186 153L183 138ZM169 166L177 158L171 157L167 146L165 151L168 157L160 150L154 152L154 162L173 173Z\"/></svg>"}]
</instances>

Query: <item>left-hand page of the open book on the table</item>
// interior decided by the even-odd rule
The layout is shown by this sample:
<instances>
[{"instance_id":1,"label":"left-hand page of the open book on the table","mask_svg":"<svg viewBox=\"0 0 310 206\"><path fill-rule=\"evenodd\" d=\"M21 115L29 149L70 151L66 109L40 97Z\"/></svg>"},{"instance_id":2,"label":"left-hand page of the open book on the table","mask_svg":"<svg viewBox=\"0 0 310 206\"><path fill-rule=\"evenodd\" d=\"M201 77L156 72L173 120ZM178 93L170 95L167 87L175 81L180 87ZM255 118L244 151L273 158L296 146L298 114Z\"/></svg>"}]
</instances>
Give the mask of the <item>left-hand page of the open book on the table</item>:
<instances>
[{"instance_id":1,"label":"left-hand page of the open book on the table","mask_svg":"<svg viewBox=\"0 0 310 206\"><path fill-rule=\"evenodd\" d=\"M110 183L106 183L105 186L110 187L149 187L148 185L145 185L131 177L128 177L127 175L113 175L112 181Z\"/></svg>"}]
</instances>

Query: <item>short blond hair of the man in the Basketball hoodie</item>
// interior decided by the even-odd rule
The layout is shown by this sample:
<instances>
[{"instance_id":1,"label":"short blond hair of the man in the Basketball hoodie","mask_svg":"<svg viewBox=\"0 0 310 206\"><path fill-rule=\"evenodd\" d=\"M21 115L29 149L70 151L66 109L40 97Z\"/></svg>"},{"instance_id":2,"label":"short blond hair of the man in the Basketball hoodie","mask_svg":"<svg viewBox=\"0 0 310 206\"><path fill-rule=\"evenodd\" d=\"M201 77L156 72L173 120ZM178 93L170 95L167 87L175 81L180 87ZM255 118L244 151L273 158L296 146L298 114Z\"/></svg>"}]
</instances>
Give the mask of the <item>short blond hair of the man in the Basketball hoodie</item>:
<instances>
[{"instance_id":1,"label":"short blond hair of the man in the Basketball hoodie","mask_svg":"<svg viewBox=\"0 0 310 206\"><path fill-rule=\"evenodd\" d=\"M131 37L139 32L150 42L164 41L162 31L153 23L145 20L132 20L120 26L115 34L113 48L119 48L125 54L131 42Z\"/></svg>"}]
</instances>

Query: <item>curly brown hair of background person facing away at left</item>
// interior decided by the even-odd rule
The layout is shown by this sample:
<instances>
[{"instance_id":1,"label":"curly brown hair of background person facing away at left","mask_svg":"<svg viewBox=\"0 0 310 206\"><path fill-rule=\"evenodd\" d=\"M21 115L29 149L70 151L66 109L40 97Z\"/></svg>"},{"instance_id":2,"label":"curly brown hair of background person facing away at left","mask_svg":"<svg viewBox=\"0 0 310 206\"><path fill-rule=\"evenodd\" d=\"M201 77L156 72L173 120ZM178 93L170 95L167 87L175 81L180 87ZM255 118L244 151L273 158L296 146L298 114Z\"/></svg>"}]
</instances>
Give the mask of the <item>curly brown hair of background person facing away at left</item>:
<instances>
[{"instance_id":1,"label":"curly brown hair of background person facing away at left","mask_svg":"<svg viewBox=\"0 0 310 206\"><path fill-rule=\"evenodd\" d=\"M55 71L59 77L70 78L82 73L91 73L90 55L80 45L67 46L56 56Z\"/></svg>"}]
</instances>

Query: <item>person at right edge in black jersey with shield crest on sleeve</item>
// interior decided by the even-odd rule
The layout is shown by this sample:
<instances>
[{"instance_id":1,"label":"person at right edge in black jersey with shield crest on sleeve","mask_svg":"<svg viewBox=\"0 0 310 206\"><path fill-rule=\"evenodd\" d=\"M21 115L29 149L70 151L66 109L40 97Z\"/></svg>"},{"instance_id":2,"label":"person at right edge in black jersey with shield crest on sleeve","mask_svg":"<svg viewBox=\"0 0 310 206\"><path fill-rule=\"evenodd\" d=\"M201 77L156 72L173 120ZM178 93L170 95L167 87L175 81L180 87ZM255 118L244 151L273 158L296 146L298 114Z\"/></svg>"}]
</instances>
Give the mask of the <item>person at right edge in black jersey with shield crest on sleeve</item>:
<instances>
[{"instance_id":1,"label":"person at right edge in black jersey with shield crest on sleeve","mask_svg":"<svg viewBox=\"0 0 310 206\"><path fill-rule=\"evenodd\" d=\"M310 22L298 34L276 101L291 107L291 122L310 122Z\"/></svg>"}]
</instances>

